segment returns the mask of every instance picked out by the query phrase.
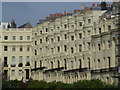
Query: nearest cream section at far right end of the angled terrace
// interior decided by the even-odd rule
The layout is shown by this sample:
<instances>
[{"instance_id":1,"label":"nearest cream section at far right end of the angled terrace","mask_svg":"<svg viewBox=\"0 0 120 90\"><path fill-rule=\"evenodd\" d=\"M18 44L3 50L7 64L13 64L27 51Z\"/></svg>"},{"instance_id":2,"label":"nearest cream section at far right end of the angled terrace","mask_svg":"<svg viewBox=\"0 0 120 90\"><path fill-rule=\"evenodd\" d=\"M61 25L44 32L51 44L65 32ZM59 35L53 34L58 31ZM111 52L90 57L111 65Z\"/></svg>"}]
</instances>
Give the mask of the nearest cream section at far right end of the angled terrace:
<instances>
[{"instance_id":1,"label":"nearest cream section at far right end of the angled terrace","mask_svg":"<svg viewBox=\"0 0 120 90\"><path fill-rule=\"evenodd\" d=\"M92 77L110 84L119 82L119 5L120 2L113 3L112 11L107 11L100 17L92 35Z\"/></svg>"}]
</instances>

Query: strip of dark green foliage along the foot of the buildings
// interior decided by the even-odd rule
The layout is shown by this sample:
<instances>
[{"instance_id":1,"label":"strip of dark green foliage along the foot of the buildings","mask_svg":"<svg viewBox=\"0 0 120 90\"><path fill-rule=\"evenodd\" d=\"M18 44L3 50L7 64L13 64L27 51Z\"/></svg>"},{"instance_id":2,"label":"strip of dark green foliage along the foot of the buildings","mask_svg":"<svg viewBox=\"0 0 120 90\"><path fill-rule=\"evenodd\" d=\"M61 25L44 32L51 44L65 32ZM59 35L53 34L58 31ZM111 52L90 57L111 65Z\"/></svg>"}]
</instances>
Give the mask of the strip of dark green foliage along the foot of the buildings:
<instances>
[{"instance_id":1,"label":"strip of dark green foliage along the foot of the buildings","mask_svg":"<svg viewBox=\"0 0 120 90\"><path fill-rule=\"evenodd\" d=\"M45 82L30 80L27 83L22 81L3 81L3 88L52 88L61 90L61 88L117 88L118 86L106 84L100 80L82 80L72 84L65 84L61 82Z\"/></svg>"}]
</instances>

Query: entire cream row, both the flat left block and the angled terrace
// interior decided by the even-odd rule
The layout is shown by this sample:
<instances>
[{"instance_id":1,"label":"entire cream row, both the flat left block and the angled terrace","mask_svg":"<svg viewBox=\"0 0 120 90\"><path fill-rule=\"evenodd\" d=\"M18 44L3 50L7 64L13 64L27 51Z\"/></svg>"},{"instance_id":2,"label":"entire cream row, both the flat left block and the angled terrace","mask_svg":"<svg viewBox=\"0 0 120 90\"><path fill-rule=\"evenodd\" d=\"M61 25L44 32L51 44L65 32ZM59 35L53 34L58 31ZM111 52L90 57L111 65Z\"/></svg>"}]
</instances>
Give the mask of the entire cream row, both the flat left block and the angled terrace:
<instances>
[{"instance_id":1,"label":"entire cream row, both the flat left block and the angled terrace","mask_svg":"<svg viewBox=\"0 0 120 90\"><path fill-rule=\"evenodd\" d=\"M2 29L4 78L64 83L101 79L116 84L120 67L116 4L112 10L104 2L97 8L83 5L82 10L50 15L34 28Z\"/></svg>"}]
</instances>

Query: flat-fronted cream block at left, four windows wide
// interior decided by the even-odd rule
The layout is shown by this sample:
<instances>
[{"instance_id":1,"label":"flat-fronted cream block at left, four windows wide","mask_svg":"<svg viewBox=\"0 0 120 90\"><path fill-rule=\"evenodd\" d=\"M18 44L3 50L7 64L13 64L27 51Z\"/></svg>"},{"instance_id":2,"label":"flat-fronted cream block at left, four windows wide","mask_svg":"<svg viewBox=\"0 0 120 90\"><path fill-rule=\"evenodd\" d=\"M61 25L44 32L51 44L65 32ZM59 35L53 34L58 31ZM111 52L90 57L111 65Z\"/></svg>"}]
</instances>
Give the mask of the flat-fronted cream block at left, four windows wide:
<instances>
[{"instance_id":1,"label":"flat-fronted cream block at left, four windows wide","mask_svg":"<svg viewBox=\"0 0 120 90\"><path fill-rule=\"evenodd\" d=\"M1 29L2 70L5 80L26 80L30 78L31 28Z\"/></svg>"}]
</instances>

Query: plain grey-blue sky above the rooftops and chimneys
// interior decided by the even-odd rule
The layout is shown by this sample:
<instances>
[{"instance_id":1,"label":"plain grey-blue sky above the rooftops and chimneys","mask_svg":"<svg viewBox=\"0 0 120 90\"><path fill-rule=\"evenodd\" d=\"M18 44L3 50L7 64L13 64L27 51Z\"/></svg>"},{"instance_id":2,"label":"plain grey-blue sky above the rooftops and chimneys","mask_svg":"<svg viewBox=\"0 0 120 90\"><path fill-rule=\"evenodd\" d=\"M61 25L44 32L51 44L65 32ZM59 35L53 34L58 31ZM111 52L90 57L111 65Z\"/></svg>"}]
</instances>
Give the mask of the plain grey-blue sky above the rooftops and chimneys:
<instances>
[{"instance_id":1,"label":"plain grey-blue sky above the rooftops and chimneys","mask_svg":"<svg viewBox=\"0 0 120 90\"><path fill-rule=\"evenodd\" d=\"M28 21L35 26L49 14L81 9L83 3L89 7L94 2L2 2L2 22L14 19L17 26Z\"/></svg>"}]
</instances>

